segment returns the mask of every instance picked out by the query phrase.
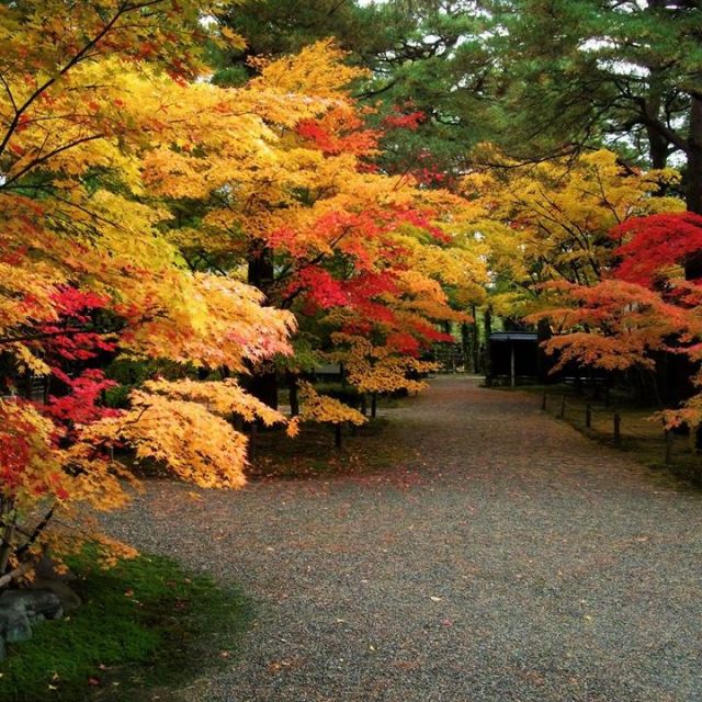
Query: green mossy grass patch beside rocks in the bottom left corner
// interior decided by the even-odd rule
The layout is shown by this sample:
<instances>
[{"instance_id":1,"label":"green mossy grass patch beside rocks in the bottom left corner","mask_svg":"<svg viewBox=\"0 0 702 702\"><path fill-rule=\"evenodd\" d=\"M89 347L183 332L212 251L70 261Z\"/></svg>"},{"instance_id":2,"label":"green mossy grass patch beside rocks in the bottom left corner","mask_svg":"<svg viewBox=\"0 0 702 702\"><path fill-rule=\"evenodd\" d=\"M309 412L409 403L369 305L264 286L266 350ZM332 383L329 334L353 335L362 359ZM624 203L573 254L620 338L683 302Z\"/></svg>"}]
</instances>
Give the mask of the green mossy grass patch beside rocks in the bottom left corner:
<instances>
[{"instance_id":1,"label":"green mossy grass patch beside rocks in the bottom left corner","mask_svg":"<svg viewBox=\"0 0 702 702\"><path fill-rule=\"evenodd\" d=\"M251 618L241 593L188 576L169 558L139 556L102 570L93 555L70 564L83 604L10 647L0 664L3 702L152 700L185 670L236 652Z\"/></svg>"}]
</instances>

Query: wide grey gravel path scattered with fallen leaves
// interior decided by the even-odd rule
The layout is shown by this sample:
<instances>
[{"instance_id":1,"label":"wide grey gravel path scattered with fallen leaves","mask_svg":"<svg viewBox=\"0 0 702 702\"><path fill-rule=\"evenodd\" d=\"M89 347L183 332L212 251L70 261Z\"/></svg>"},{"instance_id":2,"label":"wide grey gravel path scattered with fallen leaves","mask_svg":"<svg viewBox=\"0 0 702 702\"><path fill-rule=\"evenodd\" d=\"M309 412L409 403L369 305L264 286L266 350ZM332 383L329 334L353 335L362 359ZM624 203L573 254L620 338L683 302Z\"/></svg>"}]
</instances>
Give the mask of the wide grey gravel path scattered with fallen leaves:
<instances>
[{"instance_id":1,"label":"wide grey gravel path scattered with fallen leaves","mask_svg":"<svg viewBox=\"0 0 702 702\"><path fill-rule=\"evenodd\" d=\"M172 699L702 701L702 499L537 405L442 377L370 439L412 448L383 475L154 484L113 531L258 601Z\"/></svg>"}]
</instances>

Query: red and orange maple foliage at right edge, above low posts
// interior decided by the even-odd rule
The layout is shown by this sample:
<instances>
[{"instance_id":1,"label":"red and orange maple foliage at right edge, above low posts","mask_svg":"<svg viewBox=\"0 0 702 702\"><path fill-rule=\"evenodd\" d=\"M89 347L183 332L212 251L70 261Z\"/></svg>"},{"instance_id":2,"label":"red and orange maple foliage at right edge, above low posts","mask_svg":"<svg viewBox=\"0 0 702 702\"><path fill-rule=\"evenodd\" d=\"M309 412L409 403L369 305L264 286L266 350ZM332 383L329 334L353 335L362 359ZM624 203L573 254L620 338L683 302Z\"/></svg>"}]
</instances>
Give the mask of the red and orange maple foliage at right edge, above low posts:
<instances>
[{"instance_id":1,"label":"red and orange maple foliage at right edge, above low posts","mask_svg":"<svg viewBox=\"0 0 702 702\"><path fill-rule=\"evenodd\" d=\"M702 287L686 275L699 256L702 217L690 212L629 219L611 231L619 244L607 278L590 285L551 284L547 316L561 333L547 341L562 367L570 361L625 371L655 367L655 352L702 361ZM556 304L559 302L561 304ZM702 385L698 371L692 378ZM668 426L702 424L702 397L695 393L679 409L664 412Z\"/></svg>"}]
</instances>

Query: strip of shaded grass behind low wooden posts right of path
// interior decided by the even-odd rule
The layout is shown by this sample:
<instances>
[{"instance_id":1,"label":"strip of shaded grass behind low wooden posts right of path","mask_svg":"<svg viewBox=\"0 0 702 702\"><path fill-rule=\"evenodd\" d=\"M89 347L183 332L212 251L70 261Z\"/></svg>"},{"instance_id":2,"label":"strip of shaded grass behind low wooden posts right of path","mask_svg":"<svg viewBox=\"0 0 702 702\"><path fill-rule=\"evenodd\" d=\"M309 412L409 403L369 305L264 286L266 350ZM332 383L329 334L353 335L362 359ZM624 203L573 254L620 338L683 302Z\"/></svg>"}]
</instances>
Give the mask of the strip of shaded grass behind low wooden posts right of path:
<instances>
[{"instance_id":1,"label":"strip of shaded grass behind low wooden posts right of path","mask_svg":"<svg viewBox=\"0 0 702 702\"><path fill-rule=\"evenodd\" d=\"M512 389L500 387L496 389ZM672 455L666 463L666 439L663 423L655 418L657 409L642 407L625 395L612 394L609 407L603 400L593 399L586 390L578 392L569 385L528 385L516 389L539 396L541 403L544 389L547 393L546 411L561 418L561 403L565 397L565 416L568 422L581 433L600 443L627 453L638 463L655 469L661 479L673 476L689 484L702 487L702 456L694 450L691 437L673 434ZM589 392L589 390L588 390ZM591 394L591 392L590 392ZM586 407L590 405L591 427L586 427ZM614 442L614 412L621 417L621 440Z\"/></svg>"}]
</instances>

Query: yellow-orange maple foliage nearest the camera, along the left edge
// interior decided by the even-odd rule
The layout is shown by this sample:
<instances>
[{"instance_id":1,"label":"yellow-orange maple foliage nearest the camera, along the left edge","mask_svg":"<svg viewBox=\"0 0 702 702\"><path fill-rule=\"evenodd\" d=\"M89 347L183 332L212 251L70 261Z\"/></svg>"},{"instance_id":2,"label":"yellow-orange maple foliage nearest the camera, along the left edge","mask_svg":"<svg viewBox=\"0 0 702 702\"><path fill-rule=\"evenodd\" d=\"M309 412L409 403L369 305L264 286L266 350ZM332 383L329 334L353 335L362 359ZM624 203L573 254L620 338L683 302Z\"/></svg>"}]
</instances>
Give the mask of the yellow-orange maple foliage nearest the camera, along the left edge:
<instances>
[{"instance_id":1,"label":"yellow-orange maple foliage nearest the camera, along the left edge","mask_svg":"<svg viewBox=\"0 0 702 702\"><path fill-rule=\"evenodd\" d=\"M47 541L79 544L84 530L70 518L81 503L125 502L133 476L115 450L201 486L238 487L246 439L220 416L284 421L233 381L195 389L188 380L189 367L237 373L287 352L294 319L236 279L185 265L163 231L174 193L152 179L165 154L210 146L215 118L240 146L213 148L206 168L228 158L246 171L267 158L263 120L239 95L190 80L205 39L238 41L201 21L224 4L0 7L0 575ZM257 104L280 101L253 92ZM113 383L99 366L115 354L168 360L184 380L105 408ZM33 377L59 392L32 401Z\"/></svg>"}]
</instances>

